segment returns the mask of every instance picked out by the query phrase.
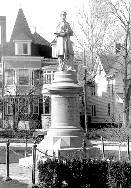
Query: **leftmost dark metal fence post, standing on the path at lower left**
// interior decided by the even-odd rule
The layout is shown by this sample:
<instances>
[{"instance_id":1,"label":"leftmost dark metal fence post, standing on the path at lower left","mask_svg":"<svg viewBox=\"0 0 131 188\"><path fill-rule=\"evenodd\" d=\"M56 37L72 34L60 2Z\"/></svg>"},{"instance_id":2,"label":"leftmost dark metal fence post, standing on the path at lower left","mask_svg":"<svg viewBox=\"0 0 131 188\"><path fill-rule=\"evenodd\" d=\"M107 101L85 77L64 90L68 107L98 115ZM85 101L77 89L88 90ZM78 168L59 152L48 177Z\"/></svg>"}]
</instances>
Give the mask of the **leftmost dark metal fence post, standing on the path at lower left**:
<instances>
[{"instance_id":1,"label":"leftmost dark metal fence post, standing on the path at lower left","mask_svg":"<svg viewBox=\"0 0 131 188\"><path fill-rule=\"evenodd\" d=\"M10 145L10 142L9 142L9 139L7 140L7 143L6 143L6 181L10 181L12 180L9 176L9 145Z\"/></svg>"}]
</instances>

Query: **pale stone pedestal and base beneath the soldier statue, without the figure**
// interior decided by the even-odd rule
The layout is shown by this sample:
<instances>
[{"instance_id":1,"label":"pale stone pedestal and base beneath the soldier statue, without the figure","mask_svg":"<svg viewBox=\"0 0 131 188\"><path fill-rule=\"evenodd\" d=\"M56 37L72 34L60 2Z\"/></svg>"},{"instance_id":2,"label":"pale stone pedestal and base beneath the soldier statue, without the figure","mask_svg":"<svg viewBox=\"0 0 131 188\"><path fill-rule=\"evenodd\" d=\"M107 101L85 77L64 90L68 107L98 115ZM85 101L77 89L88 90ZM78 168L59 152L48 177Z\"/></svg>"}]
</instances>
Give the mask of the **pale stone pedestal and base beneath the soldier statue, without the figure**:
<instances>
[{"instance_id":1,"label":"pale stone pedestal and base beneath the soldier statue, without the figure","mask_svg":"<svg viewBox=\"0 0 131 188\"><path fill-rule=\"evenodd\" d=\"M58 71L48 88L51 94L51 126L37 146L52 155L61 149L81 148L84 132L80 127L79 93L75 71Z\"/></svg>"}]
</instances>

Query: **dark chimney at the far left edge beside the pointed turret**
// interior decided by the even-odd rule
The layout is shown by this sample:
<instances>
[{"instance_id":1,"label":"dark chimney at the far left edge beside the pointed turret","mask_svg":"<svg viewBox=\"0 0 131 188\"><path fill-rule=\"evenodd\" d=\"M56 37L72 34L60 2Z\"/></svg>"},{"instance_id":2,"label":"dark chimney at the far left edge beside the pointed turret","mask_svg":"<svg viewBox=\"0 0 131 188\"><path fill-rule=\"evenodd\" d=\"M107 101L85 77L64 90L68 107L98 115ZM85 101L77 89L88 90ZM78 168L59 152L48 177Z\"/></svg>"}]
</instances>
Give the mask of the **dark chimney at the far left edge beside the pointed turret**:
<instances>
[{"instance_id":1,"label":"dark chimney at the far left edge beside the pointed turret","mask_svg":"<svg viewBox=\"0 0 131 188\"><path fill-rule=\"evenodd\" d=\"M6 43L6 16L0 16L0 26L1 26L1 44Z\"/></svg>"}]
</instances>

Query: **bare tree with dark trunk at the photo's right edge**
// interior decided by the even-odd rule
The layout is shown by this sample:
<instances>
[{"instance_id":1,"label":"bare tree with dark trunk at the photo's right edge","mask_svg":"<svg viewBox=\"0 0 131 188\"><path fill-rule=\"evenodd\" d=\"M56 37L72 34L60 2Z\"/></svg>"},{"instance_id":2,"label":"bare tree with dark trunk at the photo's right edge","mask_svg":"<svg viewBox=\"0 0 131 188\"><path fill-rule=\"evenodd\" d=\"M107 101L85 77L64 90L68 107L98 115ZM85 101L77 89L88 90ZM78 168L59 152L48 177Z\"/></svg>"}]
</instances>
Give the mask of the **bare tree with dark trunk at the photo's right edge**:
<instances>
[{"instance_id":1,"label":"bare tree with dark trunk at the photo's right edge","mask_svg":"<svg viewBox=\"0 0 131 188\"><path fill-rule=\"evenodd\" d=\"M123 32L123 45L120 53L121 76L123 78L123 127L129 126L129 100L130 100L130 27L131 27L131 2L130 0L117 0L113 3L107 0L112 18L115 19L116 26L119 25Z\"/></svg>"}]
</instances>

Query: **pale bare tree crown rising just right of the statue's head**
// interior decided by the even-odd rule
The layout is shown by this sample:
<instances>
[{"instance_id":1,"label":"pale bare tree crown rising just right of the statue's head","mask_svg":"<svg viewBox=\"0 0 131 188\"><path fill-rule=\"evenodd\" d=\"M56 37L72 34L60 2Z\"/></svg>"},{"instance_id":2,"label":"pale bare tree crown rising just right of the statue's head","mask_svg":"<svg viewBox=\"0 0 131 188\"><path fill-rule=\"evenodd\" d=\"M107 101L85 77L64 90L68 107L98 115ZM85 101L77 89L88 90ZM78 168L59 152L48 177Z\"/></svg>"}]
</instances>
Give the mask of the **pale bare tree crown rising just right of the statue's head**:
<instances>
[{"instance_id":1,"label":"pale bare tree crown rising just right of the statue's head","mask_svg":"<svg viewBox=\"0 0 131 188\"><path fill-rule=\"evenodd\" d=\"M103 47L104 38L109 27L109 11L106 1L89 0L83 4L78 12L78 25L74 28L75 37L81 48L85 48L85 55L91 66L94 65L96 55Z\"/></svg>"}]
</instances>

